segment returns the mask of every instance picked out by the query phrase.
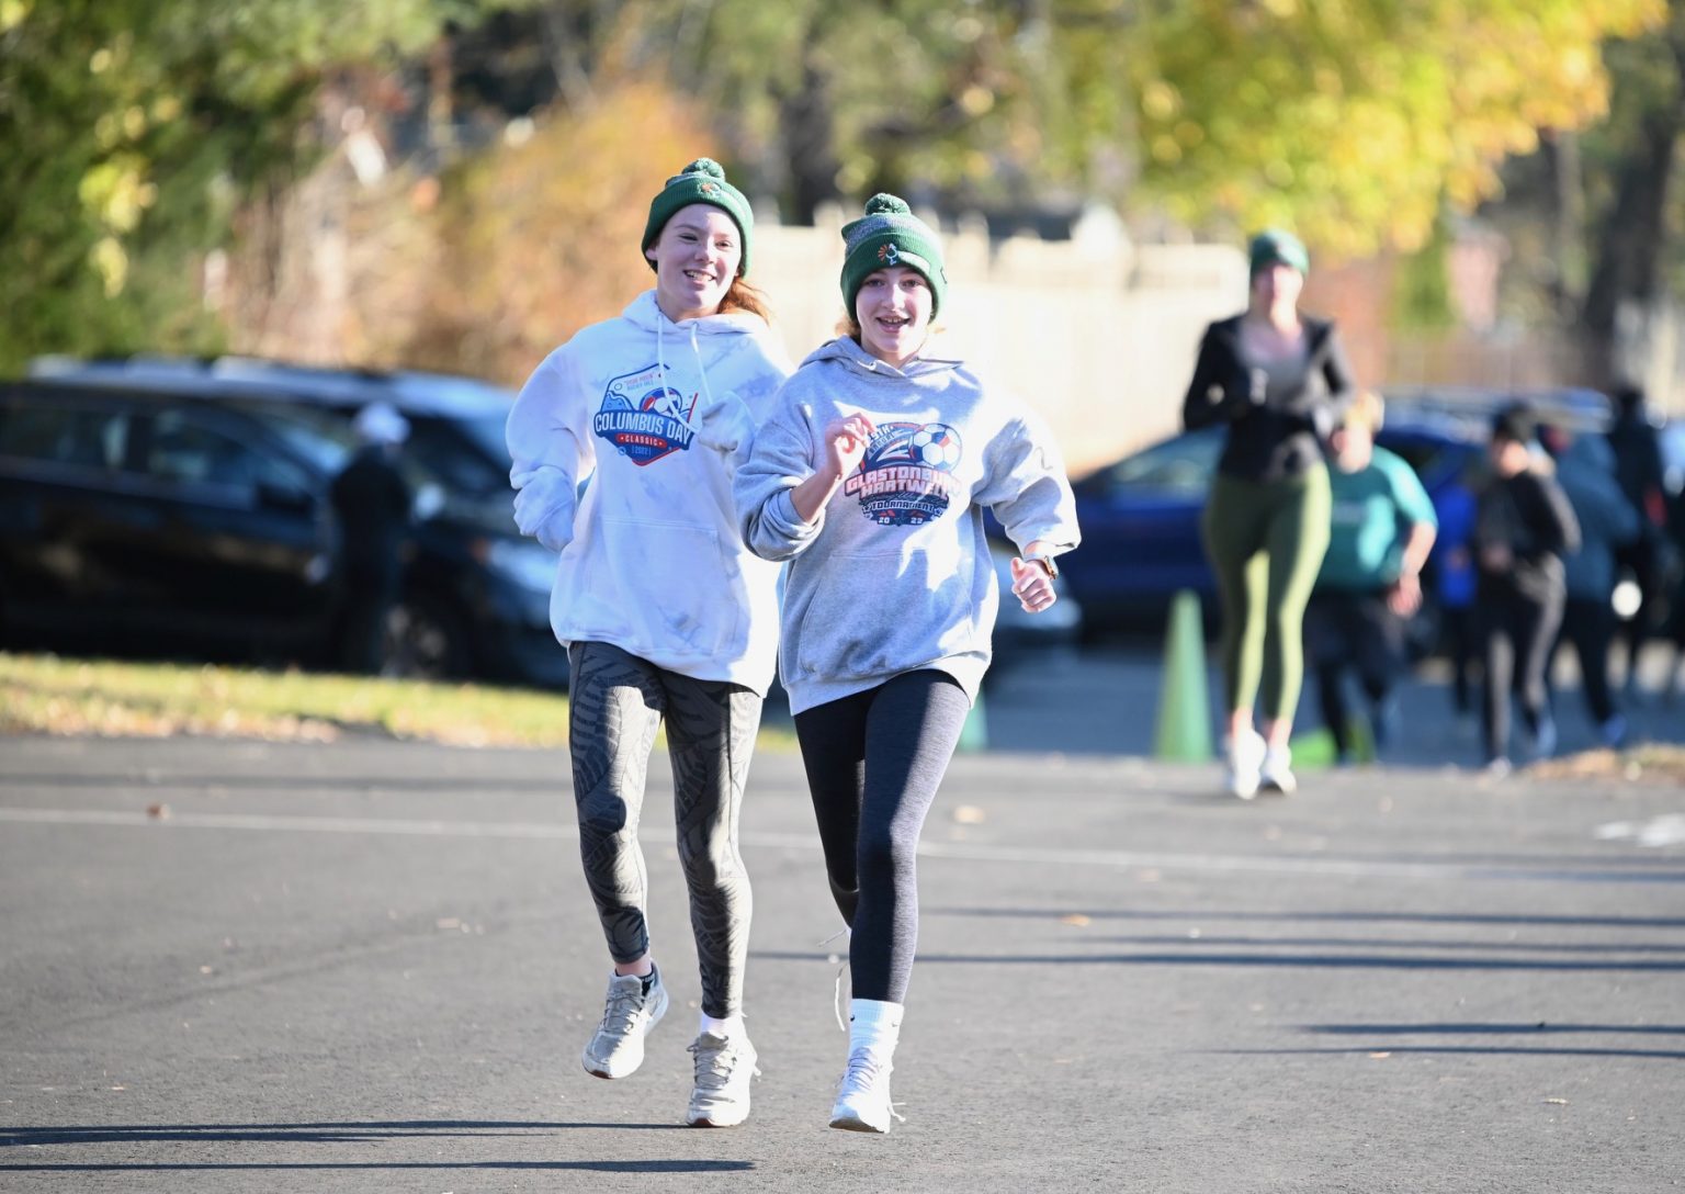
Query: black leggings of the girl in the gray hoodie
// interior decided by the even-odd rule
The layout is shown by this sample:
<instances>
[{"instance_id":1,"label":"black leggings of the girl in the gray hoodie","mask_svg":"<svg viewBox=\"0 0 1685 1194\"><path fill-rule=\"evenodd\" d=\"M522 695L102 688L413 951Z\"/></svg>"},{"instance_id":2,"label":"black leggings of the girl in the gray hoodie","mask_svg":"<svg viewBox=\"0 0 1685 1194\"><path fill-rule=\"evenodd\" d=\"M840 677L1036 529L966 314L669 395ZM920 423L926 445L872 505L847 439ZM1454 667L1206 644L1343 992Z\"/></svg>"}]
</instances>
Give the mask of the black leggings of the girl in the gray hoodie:
<instances>
[{"instance_id":1,"label":"black leggings of the girl in the gray hoodie","mask_svg":"<svg viewBox=\"0 0 1685 1194\"><path fill-rule=\"evenodd\" d=\"M952 676L908 671L795 715L831 896L854 931L856 998L907 1000L918 946L918 833L967 712Z\"/></svg>"}]
</instances>

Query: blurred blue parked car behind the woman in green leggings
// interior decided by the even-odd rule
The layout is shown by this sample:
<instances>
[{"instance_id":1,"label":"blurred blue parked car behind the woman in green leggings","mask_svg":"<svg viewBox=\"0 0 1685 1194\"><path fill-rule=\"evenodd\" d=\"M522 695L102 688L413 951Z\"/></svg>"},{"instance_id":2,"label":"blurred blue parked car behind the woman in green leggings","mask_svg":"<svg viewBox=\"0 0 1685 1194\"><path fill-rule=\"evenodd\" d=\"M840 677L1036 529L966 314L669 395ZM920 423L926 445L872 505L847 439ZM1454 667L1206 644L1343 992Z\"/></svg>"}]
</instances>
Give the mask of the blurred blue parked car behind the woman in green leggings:
<instances>
[{"instance_id":1,"label":"blurred blue parked car behind the woman in green leggings","mask_svg":"<svg viewBox=\"0 0 1685 1194\"><path fill-rule=\"evenodd\" d=\"M1602 427L1607 403L1589 390L1503 395L1481 390L1419 390L1387 395L1377 442L1404 457L1439 504L1446 487L1478 465L1491 413L1525 398L1550 418ZM1200 516L1222 454L1225 428L1183 432L1141 449L1073 482L1082 548L1063 563L1068 590L1082 604L1085 634L1158 632L1171 599L1200 595L1208 622L1217 616L1217 582L1205 558ZM1429 604L1415 637L1434 639Z\"/></svg>"}]
</instances>

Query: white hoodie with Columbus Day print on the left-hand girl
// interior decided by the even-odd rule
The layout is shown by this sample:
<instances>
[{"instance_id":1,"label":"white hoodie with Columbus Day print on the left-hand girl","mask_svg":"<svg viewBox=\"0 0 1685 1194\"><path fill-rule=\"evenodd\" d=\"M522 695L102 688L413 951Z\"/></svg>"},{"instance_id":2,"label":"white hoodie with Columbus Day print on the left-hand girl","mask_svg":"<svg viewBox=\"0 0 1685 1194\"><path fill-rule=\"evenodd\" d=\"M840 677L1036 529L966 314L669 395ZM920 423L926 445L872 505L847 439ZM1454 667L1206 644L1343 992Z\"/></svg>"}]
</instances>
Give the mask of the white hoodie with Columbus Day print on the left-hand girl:
<instances>
[{"instance_id":1,"label":"white hoodie with Columbus Day print on the left-hand girl","mask_svg":"<svg viewBox=\"0 0 1685 1194\"><path fill-rule=\"evenodd\" d=\"M544 358L509 411L509 481L521 533L559 553L564 646L765 696L778 565L743 545L731 479L789 373L760 317L674 324L654 290Z\"/></svg>"}]
</instances>

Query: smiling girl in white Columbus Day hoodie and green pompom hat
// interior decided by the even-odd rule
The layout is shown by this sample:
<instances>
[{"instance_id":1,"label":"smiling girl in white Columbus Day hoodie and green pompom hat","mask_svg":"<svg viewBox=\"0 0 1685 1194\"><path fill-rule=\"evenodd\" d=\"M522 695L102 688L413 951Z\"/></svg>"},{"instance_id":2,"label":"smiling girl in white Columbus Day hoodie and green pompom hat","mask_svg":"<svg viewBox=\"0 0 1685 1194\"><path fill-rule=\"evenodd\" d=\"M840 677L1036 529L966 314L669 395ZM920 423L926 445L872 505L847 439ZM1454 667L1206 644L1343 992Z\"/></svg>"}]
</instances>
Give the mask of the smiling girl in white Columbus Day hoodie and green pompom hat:
<instances>
[{"instance_id":1,"label":"smiling girl in white Columbus Day hoodie and green pompom hat","mask_svg":"<svg viewBox=\"0 0 1685 1194\"><path fill-rule=\"evenodd\" d=\"M696 1127L741 1123L757 1073L738 811L772 681L778 570L743 546L731 476L789 366L743 280L752 236L750 204L719 165L698 159L667 179L640 243L654 288L544 358L507 428L516 523L559 553L549 619L571 670L580 853L613 961L585 1069L635 1071L667 1010L637 840L666 725L701 971Z\"/></svg>"}]
</instances>

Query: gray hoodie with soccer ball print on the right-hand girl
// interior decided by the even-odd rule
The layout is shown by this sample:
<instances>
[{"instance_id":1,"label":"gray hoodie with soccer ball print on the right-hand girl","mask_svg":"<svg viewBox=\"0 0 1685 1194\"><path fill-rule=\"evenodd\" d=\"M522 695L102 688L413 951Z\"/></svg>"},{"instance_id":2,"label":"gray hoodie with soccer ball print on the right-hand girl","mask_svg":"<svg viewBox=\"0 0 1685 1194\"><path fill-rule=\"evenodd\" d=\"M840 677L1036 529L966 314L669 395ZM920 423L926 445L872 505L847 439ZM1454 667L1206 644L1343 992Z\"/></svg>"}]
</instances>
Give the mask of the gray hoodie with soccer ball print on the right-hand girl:
<instances>
[{"instance_id":1,"label":"gray hoodie with soccer ball print on the right-hand girl","mask_svg":"<svg viewBox=\"0 0 1685 1194\"><path fill-rule=\"evenodd\" d=\"M856 413L876 427L866 455L804 523L790 491L822 459L826 425ZM778 675L794 713L918 668L976 700L999 602L984 508L1019 548L1078 540L1058 450L1023 403L960 361L896 369L846 336L784 383L733 496L750 550L790 562Z\"/></svg>"}]
</instances>

